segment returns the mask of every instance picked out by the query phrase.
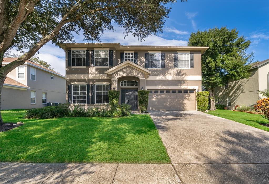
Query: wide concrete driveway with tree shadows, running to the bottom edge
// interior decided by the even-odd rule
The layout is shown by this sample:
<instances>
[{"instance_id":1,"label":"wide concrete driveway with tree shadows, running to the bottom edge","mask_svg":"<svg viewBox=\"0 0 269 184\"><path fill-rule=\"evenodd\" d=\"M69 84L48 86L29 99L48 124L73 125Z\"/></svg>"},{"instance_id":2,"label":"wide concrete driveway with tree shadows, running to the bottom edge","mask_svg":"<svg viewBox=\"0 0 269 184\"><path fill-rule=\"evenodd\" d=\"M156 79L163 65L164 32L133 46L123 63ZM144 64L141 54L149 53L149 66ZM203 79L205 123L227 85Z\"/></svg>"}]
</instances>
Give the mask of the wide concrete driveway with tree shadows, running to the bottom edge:
<instances>
[{"instance_id":1,"label":"wide concrete driveway with tree shadows, running to the bottom edge","mask_svg":"<svg viewBox=\"0 0 269 184\"><path fill-rule=\"evenodd\" d=\"M182 183L269 183L269 132L198 111L150 116Z\"/></svg>"}]
</instances>

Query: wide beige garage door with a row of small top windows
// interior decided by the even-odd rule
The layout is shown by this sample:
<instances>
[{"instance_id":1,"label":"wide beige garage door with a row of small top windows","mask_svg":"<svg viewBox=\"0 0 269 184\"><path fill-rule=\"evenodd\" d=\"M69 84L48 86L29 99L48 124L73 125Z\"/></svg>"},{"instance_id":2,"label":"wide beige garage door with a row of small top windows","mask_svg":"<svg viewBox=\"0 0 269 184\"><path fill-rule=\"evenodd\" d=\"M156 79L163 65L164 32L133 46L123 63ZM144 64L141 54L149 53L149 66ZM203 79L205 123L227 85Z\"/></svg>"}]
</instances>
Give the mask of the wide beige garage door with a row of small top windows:
<instances>
[{"instance_id":1,"label":"wide beige garage door with a row of small top windows","mask_svg":"<svg viewBox=\"0 0 269 184\"><path fill-rule=\"evenodd\" d=\"M196 110L195 90L149 90L148 111Z\"/></svg>"}]
</instances>

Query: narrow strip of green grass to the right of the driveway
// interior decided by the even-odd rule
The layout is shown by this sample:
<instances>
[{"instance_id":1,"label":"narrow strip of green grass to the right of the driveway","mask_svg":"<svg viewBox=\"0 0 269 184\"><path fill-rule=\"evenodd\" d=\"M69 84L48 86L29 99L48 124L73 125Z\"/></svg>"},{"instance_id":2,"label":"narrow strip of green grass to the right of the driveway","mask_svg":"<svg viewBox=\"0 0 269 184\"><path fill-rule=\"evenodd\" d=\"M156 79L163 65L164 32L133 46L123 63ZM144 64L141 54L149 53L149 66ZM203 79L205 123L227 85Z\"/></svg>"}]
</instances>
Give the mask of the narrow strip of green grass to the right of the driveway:
<instances>
[{"instance_id":1,"label":"narrow strip of green grass to the right of the driveway","mask_svg":"<svg viewBox=\"0 0 269 184\"><path fill-rule=\"evenodd\" d=\"M260 125L260 123L269 124L268 120L264 119L259 114L249 114L246 112L218 110L218 109L215 111L209 111L208 114L212 114L214 116L219 116L221 118L230 119L232 121L243 123L245 125L253 126L255 128L269 132L269 127Z\"/></svg>"}]
</instances>

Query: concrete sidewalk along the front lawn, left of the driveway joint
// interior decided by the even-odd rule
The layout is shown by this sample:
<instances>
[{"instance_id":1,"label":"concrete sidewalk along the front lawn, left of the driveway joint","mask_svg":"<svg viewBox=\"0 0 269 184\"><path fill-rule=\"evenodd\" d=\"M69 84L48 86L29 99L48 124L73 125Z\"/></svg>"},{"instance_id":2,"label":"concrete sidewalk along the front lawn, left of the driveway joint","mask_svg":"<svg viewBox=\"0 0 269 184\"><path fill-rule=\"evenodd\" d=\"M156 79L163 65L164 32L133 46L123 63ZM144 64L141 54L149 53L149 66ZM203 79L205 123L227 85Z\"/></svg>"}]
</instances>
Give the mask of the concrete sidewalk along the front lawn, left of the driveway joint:
<instances>
[{"instance_id":1,"label":"concrete sidewalk along the front lawn, left of the driveway joint","mask_svg":"<svg viewBox=\"0 0 269 184\"><path fill-rule=\"evenodd\" d=\"M171 164L0 162L0 183L180 183Z\"/></svg>"}]
</instances>

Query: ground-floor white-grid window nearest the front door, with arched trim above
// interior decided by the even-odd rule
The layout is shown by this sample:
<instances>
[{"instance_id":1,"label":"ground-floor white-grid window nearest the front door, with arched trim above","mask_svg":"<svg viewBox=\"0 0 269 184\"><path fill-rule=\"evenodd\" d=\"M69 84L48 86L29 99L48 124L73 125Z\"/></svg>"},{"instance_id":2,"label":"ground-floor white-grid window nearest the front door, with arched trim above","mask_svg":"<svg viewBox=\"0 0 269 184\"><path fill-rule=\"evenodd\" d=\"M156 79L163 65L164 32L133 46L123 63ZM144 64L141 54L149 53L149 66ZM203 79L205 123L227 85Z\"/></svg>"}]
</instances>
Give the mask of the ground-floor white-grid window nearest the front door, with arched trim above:
<instances>
[{"instance_id":1,"label":"ground-floor white-grid window nearest the front door, with arched trim above","mask_svg":"<svg viewBox=\"0 0 269 184\"><path fill-rule=\"evenodd\" d=\"M108 91L109 84L95 84L95 103L109 103Z\"/></svg>"}]
</instances>

